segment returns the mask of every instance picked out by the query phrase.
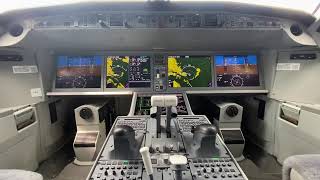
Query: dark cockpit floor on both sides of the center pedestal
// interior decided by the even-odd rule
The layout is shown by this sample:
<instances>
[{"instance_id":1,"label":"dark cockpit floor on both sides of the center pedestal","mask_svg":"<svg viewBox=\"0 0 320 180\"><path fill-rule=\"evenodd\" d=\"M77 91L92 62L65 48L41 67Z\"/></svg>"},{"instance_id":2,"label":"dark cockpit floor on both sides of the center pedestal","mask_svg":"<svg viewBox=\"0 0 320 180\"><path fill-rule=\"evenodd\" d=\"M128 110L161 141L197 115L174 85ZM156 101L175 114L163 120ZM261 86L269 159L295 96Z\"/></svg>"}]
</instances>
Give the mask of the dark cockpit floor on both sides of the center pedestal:
<instances>
[{"instance_id":1,"label":"dark cockpit floor on both sides of the center pedestal","mask_svg":"<svg viewBox=\"0 0 320 180\"><path fill-rule=\"evenodd\" d=\"M281 165L258 146L246 141L244 156L246 159L239 164L249 180L281 180ZM44 180L85 180L91 166L77 166L73 160L71 142L42 162L37 172Z\"/></svg>"}]
</instances>

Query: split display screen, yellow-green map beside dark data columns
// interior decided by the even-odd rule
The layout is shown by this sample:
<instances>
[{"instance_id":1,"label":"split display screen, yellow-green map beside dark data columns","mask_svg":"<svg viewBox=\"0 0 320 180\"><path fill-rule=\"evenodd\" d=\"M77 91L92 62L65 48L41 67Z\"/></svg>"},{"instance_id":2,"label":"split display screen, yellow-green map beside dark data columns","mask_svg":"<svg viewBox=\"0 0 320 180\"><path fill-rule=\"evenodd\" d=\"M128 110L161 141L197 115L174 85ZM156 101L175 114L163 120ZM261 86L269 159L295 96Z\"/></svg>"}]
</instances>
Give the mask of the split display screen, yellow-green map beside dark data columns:
<instances>
[{"instance_id":1,"label":"split display screen, yellow-green map beside dark data columns","mask_svg":"<svg viewBox=\"0 0 320 180\"><path fill-rule=\"evenodd\" d=\"M150 88L149 56L108 56L107 88Z\"/></svg>"}]
</instances>

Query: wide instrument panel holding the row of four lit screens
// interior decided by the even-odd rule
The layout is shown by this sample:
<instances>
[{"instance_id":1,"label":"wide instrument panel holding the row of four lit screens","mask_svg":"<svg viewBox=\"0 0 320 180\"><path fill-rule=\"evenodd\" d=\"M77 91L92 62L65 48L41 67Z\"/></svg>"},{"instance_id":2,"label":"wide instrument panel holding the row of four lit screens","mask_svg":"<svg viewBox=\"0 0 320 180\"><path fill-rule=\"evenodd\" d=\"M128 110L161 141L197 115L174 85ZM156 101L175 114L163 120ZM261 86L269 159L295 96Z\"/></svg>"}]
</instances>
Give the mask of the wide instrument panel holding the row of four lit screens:
<instances>
[{"instance_id":1,"label":"wide instrument panel holding the row of four lit screens","mask_svg":"<svg viewBox=\"0 0 320 180\"><path fill-rule=\"evenodd\" d=\"M58 55L53 91L263 89L256 54Z\"/></svg>"}]
</instances>

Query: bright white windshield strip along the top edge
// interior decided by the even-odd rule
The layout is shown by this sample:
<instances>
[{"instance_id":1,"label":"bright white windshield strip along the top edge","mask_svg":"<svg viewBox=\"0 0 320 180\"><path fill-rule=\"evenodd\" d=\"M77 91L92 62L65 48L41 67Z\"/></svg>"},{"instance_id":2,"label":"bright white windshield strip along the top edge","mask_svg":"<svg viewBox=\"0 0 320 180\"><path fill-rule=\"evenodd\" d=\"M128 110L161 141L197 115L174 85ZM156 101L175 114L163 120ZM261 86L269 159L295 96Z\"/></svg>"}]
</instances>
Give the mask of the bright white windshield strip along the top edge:
<instances>
[{"instance_id":1,"label":"bright white windshield strip along the top edge","mask_svg":"<svg viewBox=\"0 0 320 180\"><path fill-rule=\"evenodd\" d=\"M112 0L95 0L95 2L107 2ZM116 0L124 1L124 2L142 2L148 0ZM164 0L165 1L165 0ZM166 0L168 1L168 0ZM169 0L171 2L196 2L198 0ZM316 10L319 8L320 0L199 0L205 2L240 2L240 3L247 3L247 4L255 4L261 6L271 6L271 7L280 7L292 10L298 10L306 12L310 15L316 16ZM64 4L72 4L78 2L92 2L89 0L6 0L1 2L0 13L11 11L11 10L18 10L18 9L28 9L28 8L35 8L35 7L48 7L48 6L55 6L55 5L64 5Z\"/></svg>"}]
</instances>

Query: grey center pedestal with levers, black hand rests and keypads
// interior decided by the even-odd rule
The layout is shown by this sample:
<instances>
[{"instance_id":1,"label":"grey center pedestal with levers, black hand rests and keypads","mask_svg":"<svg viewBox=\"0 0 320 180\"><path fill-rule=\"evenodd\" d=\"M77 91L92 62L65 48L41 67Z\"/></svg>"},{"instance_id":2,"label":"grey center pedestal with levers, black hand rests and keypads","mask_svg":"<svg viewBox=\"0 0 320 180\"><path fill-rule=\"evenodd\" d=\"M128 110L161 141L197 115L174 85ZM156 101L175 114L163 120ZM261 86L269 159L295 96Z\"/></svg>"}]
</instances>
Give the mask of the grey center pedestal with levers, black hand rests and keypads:
<instances>
[{"instance_id":1,"label":"grey center pedestal with levers, black hand rests and keypads","mask_svg":"<svg viewBox=\"0 0 320 180\"><path fill-rule=\"evenodd\" d=\"M157 98L150 115L116 119L87 180L247 180L206 116L179 115L172 95Z\"/></svg>"}]
</instances>

